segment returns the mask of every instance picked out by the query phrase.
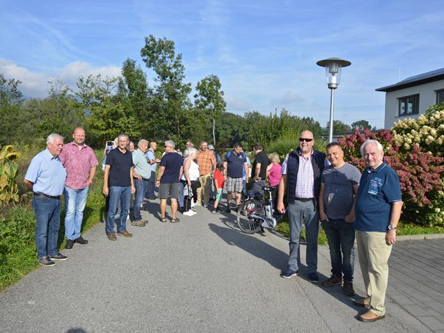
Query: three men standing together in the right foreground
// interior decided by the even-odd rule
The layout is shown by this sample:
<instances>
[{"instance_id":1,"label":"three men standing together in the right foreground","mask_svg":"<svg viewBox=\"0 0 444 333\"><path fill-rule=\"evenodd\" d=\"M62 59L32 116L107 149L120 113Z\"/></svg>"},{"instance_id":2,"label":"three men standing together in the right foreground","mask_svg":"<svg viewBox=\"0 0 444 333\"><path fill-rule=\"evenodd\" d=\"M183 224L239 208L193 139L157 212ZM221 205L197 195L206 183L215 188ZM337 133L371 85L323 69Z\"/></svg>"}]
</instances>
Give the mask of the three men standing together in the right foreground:
<instances>
[{"instance_id":1,"label":"three men standing together in the right foreground","mask_svg":"<svg viewBox=\"0 0 444 333\"><path fill-rule=\"evenodd\" d=\"M383 147L366 140L360 147L367 165L359 170L344 161L339 143L329 143L326 154L314 148L310 131L303 131L299 148L285 157L278 190L278 211L287 210L290 225L290 257L281 277L298 273L300 236L306 228L308 279L317 275L317 236L319 220L326 233L331 256L331 277L326 287L342 285L346 295L354 295L355 235L360 268L367 297L355 300L368 311L358 317L374 322L385 317L384 300L388 283L388 258L396 242L396 229L402 210L401 188L395 170L383 161ZM286 195L287 208L284 204Z\"/></svg>"}]
</instances>

